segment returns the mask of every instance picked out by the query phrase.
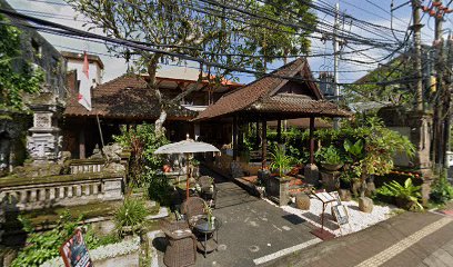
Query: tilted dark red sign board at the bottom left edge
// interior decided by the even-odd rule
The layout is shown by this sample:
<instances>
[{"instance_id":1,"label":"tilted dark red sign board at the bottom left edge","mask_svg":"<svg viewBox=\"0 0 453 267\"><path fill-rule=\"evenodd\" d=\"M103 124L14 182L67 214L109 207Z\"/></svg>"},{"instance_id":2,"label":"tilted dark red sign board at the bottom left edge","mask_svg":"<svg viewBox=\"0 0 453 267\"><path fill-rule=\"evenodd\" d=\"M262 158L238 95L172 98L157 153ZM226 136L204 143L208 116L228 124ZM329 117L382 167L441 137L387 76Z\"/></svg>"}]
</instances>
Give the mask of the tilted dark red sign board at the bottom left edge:
<instances>
[{"instance_id":1,"label":"tilted dark red sign board at the bottom left edge","mask_svg":"<svg viewBox=\"0 0 453 267\"><path fill-rule=\"evenodd\" d=\"M63 258L66 267L92 267L87 245L80 229L60 247L60 255Z\"/></svg>"}]
</instances>

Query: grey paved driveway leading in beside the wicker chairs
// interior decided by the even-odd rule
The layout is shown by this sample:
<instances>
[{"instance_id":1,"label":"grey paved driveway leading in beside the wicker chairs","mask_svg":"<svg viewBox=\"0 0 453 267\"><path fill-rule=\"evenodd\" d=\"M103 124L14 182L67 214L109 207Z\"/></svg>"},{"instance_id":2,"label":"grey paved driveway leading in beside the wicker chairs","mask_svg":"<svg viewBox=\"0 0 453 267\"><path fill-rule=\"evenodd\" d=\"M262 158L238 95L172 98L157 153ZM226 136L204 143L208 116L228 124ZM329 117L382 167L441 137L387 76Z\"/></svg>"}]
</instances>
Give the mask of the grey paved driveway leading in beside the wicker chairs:
<instances>
[{"instance_id":1,"label":"grey paved driveway leading in beside the wicker chairs","mask_svg":"<svg viewBox=\"0 0 453 267\"><path fill-rule=\"evenodd\" d=\"M268 261L284 249L319 240L303 219L250 196L232 181L210 175L219 188L214 215L223 221L220 247L207 258L199 254L195 266L255 266L255 261Z\"/></svg>"}]
</instances>

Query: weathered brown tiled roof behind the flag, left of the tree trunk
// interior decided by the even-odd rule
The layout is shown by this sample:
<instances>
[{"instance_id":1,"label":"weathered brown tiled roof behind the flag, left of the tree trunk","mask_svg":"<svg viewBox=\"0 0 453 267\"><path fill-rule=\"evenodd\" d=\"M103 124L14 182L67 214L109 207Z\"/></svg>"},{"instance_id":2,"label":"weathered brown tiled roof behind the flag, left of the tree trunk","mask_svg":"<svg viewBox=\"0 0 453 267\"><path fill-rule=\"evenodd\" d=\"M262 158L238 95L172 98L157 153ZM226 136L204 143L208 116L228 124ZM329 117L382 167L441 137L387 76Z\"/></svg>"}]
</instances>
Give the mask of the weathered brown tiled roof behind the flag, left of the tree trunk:
<instances>
[{"instance_id":1,"label":"weathered brown tiled roof behind the flag, left of the tree trunk","mask_svg":"<svg viewBox=\"0 0 453 267\"><path fill-rule=\"evenodd\" d=\"M147 89L147 82L139 76L123 75L92 90L92 111L78 102L77 90L71 91L66 116L95 116L107 118L154 119L160 115L160 107L154 93ZM171 117L197 116L197 112L180 106L168 110Z\"/></svg>"}]
</instances>

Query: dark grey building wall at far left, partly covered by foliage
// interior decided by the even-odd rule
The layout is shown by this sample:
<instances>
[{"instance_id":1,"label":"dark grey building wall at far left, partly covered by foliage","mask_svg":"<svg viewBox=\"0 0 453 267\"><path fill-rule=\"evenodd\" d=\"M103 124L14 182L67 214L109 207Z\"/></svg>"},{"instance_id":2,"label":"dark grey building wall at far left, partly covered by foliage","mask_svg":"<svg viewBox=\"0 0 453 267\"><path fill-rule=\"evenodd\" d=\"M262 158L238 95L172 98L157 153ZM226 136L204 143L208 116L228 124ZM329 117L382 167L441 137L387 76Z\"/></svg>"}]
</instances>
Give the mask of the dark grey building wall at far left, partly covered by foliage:
<instances>
[{"instance_id":1,"label":"dark grey building wall at far left, partly covered by foliage","mask_svg":"<svg viewBox=\"0 0 453 267\"><path fill-rule=\"evenodd\" d=\"M6 0L0 0L0 7L12 9ZM47 103L64 106L64 99L67 97L64 58L38 31L27 27L29 24L26 21L8 17L7 21L9 24L19 28L21 32L21 57L14 59L13 66L16 69L19 71L20 66L27 62L39 66L44 72L44 83L41 86L41 91L34 96L29 96L26 100L31 111L34 111L34 108L42 110ZM10 26L3 24L1 27ZM24 112L0 110L0 172L8 172L12 166L21 165L26 159L28 129L39 119ZM41 119L48 120L48 122L53 126L57 123L57 116L46 116L46 118L41 117ZM34 144L38 145L38 142ZM39 149L41 149L40 151L44 151L47 148L41 145L42 144L39 144ZM29 146L29 148L31 147ZM32 149L36 150L38 148L33 147Z\"/></svg>"}]
</instances>

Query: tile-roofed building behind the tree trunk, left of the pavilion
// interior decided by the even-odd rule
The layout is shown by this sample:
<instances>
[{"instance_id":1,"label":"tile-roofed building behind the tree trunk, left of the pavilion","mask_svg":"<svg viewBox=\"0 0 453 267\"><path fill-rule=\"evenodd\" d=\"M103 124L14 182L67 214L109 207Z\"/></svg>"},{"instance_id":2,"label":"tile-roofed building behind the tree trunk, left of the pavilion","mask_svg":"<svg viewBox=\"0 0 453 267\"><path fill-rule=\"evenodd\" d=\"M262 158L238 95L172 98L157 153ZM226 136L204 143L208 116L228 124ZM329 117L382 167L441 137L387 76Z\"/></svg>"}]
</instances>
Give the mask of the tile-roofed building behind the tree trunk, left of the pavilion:
<instances>
[{"instance_id":1,"label":"tile-roofed building behind the tree trunk, left of the pavilion","mask_svg":"<svg viewBox=\"0 0 453 267\"><path fill-rule=\"evenodd\" d=\"M172 141L185 139L187 135L195 139L202 136L200 126L191 120L222 95L242 86L228 80L212 85L208 80L198 81L199 76L198 69L184 67L158 71L157 83L167 100L194 86L198 88L168 110L164 127ZM84 158L97 145L112 142L121 125L153 123L159 118L160 106L153 91L147 88L147 79L143 75L123 75L92 88L92 110L89 111L78 102L77 73L69 73L72 97L64 111L63 149L71 151L73 158Z\"/></svg>"}]
</instances>

